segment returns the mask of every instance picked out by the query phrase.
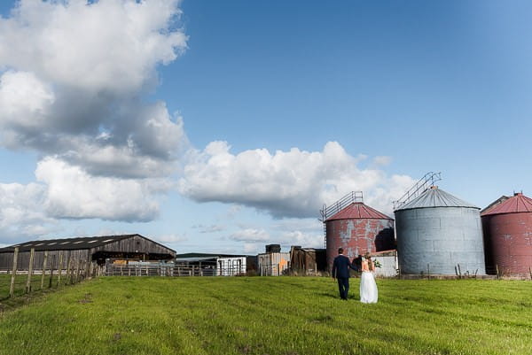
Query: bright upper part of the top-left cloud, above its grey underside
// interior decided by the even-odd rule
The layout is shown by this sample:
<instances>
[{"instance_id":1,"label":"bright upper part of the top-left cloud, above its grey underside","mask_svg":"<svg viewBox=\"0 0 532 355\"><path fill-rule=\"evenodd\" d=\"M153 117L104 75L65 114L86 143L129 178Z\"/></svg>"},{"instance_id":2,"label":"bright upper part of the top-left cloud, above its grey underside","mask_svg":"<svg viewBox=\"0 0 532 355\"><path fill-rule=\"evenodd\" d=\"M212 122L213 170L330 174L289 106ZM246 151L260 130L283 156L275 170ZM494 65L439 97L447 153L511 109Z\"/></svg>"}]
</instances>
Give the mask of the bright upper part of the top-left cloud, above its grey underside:
<instances>
[{"instance_id":1,"label":"bright upper part of the top-left cloud, above its grey underside","mask_svg":"<svg viewBox=\"0 0 532 355\"><path fill-rule=\"evenodd\" d=\"M176 0L22 0L0 19L0 65L93 93L137 92L186 48Z\"/></svg>"}]
</instances>

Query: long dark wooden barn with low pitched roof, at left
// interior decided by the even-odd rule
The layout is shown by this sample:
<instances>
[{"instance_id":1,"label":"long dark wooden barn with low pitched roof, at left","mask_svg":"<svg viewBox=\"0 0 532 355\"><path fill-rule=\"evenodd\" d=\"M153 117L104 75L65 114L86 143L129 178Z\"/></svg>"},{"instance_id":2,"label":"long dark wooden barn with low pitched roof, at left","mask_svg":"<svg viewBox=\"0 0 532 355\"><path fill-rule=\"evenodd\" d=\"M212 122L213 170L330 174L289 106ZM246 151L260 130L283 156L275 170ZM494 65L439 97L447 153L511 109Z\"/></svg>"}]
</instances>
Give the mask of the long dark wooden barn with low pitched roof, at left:
<instances>
[{"instance_id":1,"label":"long dark wooden barn with low pitched roof, at left","mask_svg":"<svg viewBox=\"0 0 532 355\"><path fill-rule=\"evenodd\" d=\"M154 242L143 235L105 235L82 238L36 240L15 244L0 249L0 271L12 269L13 253L19 248L17 268L27 270L30 251L34 249L33 269L41 270L44 255L48 255L48 265L53 263L66 268L68 260L83 260L106 264L106 259L168 260L176 256L176 251Z\"/></svg>"}]
</instances>

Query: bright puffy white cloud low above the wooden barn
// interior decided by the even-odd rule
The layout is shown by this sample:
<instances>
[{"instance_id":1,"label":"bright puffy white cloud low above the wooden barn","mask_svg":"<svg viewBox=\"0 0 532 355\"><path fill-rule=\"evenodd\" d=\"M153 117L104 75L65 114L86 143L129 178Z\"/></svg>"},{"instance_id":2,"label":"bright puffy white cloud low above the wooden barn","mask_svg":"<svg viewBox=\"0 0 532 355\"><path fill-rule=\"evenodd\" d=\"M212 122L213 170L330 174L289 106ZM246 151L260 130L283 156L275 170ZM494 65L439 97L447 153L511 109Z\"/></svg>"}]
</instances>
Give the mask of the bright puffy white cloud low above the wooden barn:
<instances>
[{"instance_id":1,"label":"bright puffy white cloud low above the wooden barn","mask_svg":"<svg viewBox=\"0 0 532 355\"><path fill-rule=\"evenodd\" d=\"M160 179L92 176L56 158L40 161L35 176L47 185L44 207L56 218L153 220L159 213L153 194L170 186Z\"/></svg>"}]
</instances>

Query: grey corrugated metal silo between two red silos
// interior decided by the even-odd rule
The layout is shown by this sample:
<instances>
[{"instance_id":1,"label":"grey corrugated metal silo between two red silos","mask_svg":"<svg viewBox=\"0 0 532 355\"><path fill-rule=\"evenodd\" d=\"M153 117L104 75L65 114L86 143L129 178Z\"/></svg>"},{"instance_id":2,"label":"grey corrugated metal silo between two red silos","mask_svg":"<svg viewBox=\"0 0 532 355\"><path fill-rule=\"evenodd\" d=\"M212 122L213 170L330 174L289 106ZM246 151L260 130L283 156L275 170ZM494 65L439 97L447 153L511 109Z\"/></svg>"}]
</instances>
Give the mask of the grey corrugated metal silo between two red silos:
<instances>
[{"instance_id":1,"label":"grey corrugated metal silo between two red silos","mask_svg":"<svg viewBox=\"0 0 532 355\"><path fill-rule=\"evenodd\" d=\"M480 208L432 187L395 210L402 274L486 274Z\"/></svg>"}]
</instances>

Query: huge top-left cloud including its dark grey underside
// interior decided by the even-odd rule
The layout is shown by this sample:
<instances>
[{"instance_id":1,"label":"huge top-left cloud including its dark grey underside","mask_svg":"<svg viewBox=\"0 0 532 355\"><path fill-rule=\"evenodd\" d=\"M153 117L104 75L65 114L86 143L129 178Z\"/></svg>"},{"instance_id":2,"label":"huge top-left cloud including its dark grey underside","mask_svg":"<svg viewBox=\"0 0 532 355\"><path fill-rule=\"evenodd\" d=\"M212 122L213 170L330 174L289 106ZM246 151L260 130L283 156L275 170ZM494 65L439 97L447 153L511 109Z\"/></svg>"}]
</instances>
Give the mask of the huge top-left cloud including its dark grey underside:
<instances>
[{"instance_id":1,"label":"huge top-left cloud including its dark grey underside","mask_svg":"<svg viewBox=\"0 0 532 355\"><path fill-rule=\"evenodd\" d=\"M183 121L143 97L186 48L178 4L20 1L0 18L0 145L94 175L171 174Z\"/></svg>"}]
</instances>

